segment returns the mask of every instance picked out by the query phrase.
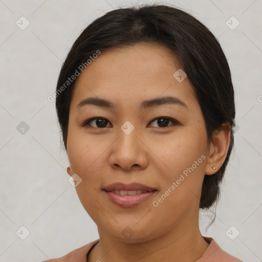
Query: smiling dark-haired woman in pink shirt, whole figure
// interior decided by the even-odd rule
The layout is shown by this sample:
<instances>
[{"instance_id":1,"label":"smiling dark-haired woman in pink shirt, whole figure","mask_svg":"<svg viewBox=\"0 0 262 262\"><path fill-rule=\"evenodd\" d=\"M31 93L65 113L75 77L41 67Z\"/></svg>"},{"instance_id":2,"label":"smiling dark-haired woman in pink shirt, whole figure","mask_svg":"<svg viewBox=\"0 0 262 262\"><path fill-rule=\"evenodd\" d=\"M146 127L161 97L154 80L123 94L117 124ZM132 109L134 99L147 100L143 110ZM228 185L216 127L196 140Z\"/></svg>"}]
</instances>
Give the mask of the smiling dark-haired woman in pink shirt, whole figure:
<instances>
[{"instance_id":1,"label":"smiling dark-haired woman in pink shirt, whole figure","mask_svg":"<svg viewBox=\"0 0 262 262\"><path fill-rule=\"evenodd\" d=\"M55 96L99 239L52 261L241 261L199 229L235 118L227 59L200 21L165 5L106 13L75 41Z\"/></svg>"}]
</instances>

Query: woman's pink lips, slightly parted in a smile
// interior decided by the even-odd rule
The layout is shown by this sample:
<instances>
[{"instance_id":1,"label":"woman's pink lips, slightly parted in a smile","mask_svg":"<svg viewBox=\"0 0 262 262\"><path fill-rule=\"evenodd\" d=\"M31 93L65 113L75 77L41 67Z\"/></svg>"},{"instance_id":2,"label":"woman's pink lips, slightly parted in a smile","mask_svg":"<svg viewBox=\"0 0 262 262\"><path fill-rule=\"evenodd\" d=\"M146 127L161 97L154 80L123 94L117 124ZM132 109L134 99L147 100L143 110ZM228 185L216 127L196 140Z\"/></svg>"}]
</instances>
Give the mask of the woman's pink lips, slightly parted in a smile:
<instances>
[{"instance_id":1,"label":"woman's pink lips, slightly parted in a smile","mask_svg":"<svg viewBox=\"0 0 262 262\"><path fill-rule=\"evenodd\" d=\"M120 195L114 192L110 192L112 190L142 190L142 191L150 191L136 195ZM145 202L146 200L152 198L156 192L158 191L156 188L152 188L146 185L142 185L139 183L131 183L131 184L123 184L123 183L114 183L109 186L106 186L103 189L107 198L112 201L114 204L120 207L135 207L139 204Z\"/></svg>"}]
</instances>

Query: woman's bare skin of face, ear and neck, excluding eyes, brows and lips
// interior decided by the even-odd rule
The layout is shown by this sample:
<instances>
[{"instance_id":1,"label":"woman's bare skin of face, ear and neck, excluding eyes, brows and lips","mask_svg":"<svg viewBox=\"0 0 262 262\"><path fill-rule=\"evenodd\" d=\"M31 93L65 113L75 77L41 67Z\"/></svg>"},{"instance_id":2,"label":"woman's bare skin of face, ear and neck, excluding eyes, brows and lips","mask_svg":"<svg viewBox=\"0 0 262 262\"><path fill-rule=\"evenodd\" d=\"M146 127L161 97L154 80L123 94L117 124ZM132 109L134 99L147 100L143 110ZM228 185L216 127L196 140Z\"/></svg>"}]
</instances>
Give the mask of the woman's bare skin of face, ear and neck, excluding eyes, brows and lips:
<instances>
[{"instance_id":1,"label":"woman's bare skin of face, ear and neck, excluding eyes, brows and lips","mask_svg":"<svg viewBox=\"0 0 262 262\"><path fill-rule=\"evenodd\" d=\"M78 197L97 224L100 242L89 261L196 261L208 248L199 230L199 202L205 174L212 175L225 161L230 142L227 128L208 143L201 107L187 78L173 77L179 69L169 49L139 43L103 51L78 77L70 105L67 151L68 173L82 182ZM163 104L141 110L143 100L174 96L187 106ZM110 100L115 108L78 107L82 99ZM105 118L104 126L81 126L92 118ZM167 127L157 117L169 117ZM121 126L135 129L126 135ZM226 126L227 124L225 124ZM202 155L206 158L168 197L152 202L176 182L180 174ZM216 170L212 168L216 166ZM154 198L133 208L123 208L106 198L105 186L138 182L157 188ZM122 230L134 233L126 239Z\"/></svg>"}]
</instances>

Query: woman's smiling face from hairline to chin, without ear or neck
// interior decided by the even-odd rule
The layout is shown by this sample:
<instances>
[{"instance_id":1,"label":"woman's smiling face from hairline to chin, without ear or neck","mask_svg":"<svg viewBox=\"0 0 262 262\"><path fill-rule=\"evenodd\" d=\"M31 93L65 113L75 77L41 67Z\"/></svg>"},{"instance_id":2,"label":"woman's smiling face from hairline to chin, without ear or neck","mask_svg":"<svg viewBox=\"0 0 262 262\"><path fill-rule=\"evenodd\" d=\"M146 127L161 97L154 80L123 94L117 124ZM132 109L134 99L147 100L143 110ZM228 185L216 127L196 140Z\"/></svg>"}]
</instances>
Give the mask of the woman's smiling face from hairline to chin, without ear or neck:
<instances>
[{"instance_id":1,"label":"woman's smiling face from hairline to chin, without ear or neck","mask_svg":"<svg viewBox=\"0 0 262 262\"><path fill-rule=\"evenodd\" d=\"M198 100L178 70L167 48L140 43L101 52L77 79L68 172L82 180L76 191L99 232L116 240L148 241L198 222L209 145ZM104 190L117 182L151 192ZM114 188L121 189L107 189Z\"/></svg>"}]
</instances>

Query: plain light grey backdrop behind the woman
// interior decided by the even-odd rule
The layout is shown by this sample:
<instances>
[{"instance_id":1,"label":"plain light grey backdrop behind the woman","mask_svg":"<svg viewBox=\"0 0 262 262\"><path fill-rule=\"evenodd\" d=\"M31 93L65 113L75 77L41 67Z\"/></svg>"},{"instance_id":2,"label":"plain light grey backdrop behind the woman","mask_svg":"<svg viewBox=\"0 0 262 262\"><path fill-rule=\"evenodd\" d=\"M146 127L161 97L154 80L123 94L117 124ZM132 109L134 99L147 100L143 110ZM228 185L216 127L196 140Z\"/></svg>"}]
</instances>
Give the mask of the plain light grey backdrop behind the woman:
<instances>
[{"instance_id":1,"label":"plain light grey backdrop behind the woman","mask_svg":"<svg viewBox=\"0 0 262 262\"><path fill-rule=\"evenodd\" d=\"M225 251L252 262L262 261L261 2L157 2L198 18L219 39L228 59L235 89L235 147L215 222L207 228L213 217L208 212L201 214L200 225L203 235ZM55 103L47 98L55 92L65 56L88 24L113 9L150 3L156 2L0 1L0 261L60 257L99 238L68 181Z\"/></svg>"}]
</instances>

